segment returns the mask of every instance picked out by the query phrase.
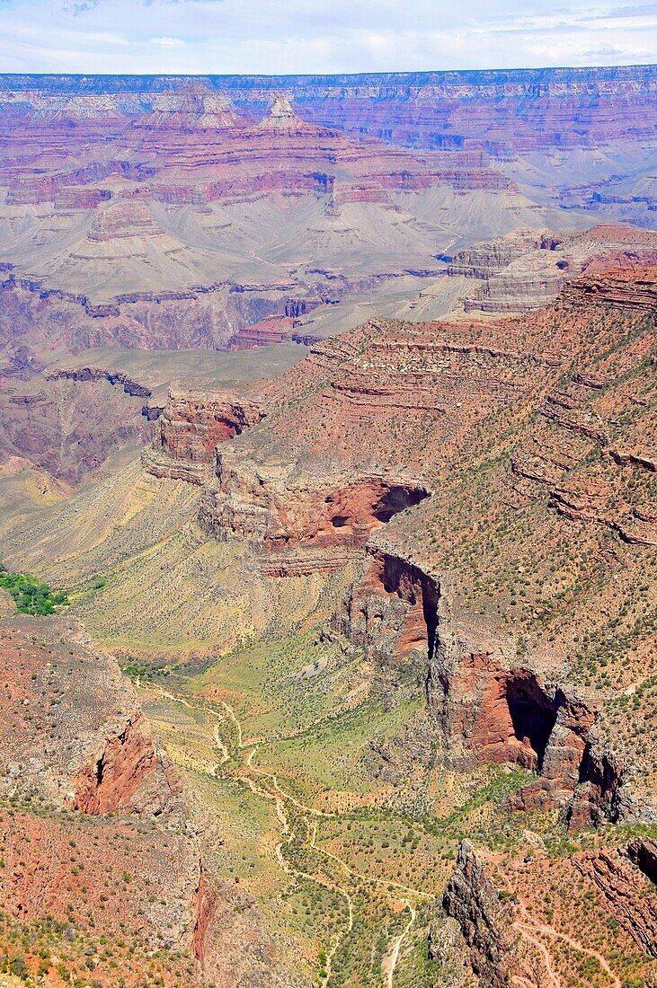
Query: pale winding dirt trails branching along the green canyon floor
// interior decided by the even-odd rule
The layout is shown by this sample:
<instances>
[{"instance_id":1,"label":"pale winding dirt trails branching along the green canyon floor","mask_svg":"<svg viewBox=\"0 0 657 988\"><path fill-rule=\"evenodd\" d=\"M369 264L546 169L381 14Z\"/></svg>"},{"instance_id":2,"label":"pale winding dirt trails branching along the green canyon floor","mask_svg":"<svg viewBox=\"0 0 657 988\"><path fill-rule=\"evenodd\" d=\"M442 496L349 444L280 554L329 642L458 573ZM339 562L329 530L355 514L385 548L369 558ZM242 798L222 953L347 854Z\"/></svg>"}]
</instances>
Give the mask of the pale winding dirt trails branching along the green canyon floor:
<instances>
[{"instance_id":1,"label":"pale winding dirt trails branching along the green canyon floor","mask_svg":"<svg viewBox=\"0 0 657 988\"><path fill-rule=\"evenodd\" d=\"M136 686L138 689L144 689L144 690L152 689L154 690L154 692L158 693L161 697L164 697L167 700L171 700L174 703L180 703L182 706L186 706L192 710L200 710L215 718L215 723L212 730L212 739L214 741L214 744L216 745L217 750L219 751L220 761L216 762L214 765L210 767L209 774L212 776L218 776L222 766L225 765L225 763L230 760L230 752L226 747L225 742L221 739L219 733L219 724L223 722L224 716L218 713L217 710L212 707L203 706L202 704L199 703L192 703L189 700L186 700L184 697L180 697L177 696L176 694L170 693L168 690L164 690L161 687L142 687L138 678L136 680ZM357 871L355 868L352 868L351 865L347 864L347 862L344 861L344 859L340 858L338 855L333 854L331 851L328 851L326 848L320 847L317 844L317 825L316 823L311 822L311 818L314 817L315 819L317 819L318 817L324 817L324 818L335 819L339 817L339 814L326 813L323 812L322 810L315 809L313 806L308 806L305 803L300 802L298 799L295 798L295 796L293 796L290 792L287 792L281 786L278 777L274 773L267 772L267 770L260 769L257 766L255 766L253 764L253 759L256 755L256 752L258 751L258 748L261 747L261 745L263 744L267 744L268 741L266 739L247 739L245 741L242 732L242 725L238 717L236 716L232 706L229 703L226 703L224 700L217 700L217 702L222 707L225 716L227 716L228 719L231 720L234 725L236 739L237 739L235 750L244 751L245 749L253 745L251 751L248 754L248 757L246 758L244 767L248 770L249 773L253 774L253 776L255 776L256 779L252 778L252 775L244 775L241 773L235 773L235 778L238 779L240 782L244 782L244 784L248 785L248 787L251 789L254 795L258 795L264 799L272 800L275 803L276 813L281 823L281 831L283 837L283 840L281 840L275 848L275 857L278 864L286 874L293 875L297 878L305 878L309 881L317 882L318 884L323 885L325 888L330 888L333 891L338 892L340 895L344 897L345 902L347 904L346 927L342 933L338 934L335 937L330 949L327 951L326 954L326 962L324 966L326 974L321 980L320 988L327 988L333 970L333 966L332 966L333 958L335 957L336 952L341 947L345 938L354 929L354 902L349 889L347 889L344 885L332 881L330 878L327 878L326 875L310 874L306 871L302 871L299 870L298 868L294 868L292 865L290 865L287 862L287 859L283 853L283 848L284 846L291 844L295 835L291 831L289 826L289 821L287 819L286 802L290 803L292 806L294 806L295 809L299 810L299 812L303 814L303 820L306 827L306 842L308 847L316 854L322 855L325 858L329 859L330 861L338 864L344 870L345 874L349 875L351 878L373 885L383 885L386 888L393 887L401 892L406 893L406 895L408 896L414 897L415 899L424 899L431 901L434 898L434 896L428 892L423 892L420 889L411 888L410 886L404 885L398 881L392 881L391 879L386 880L384 878L375 878L372 877L371 875L364 874L361 871ZM261 781L261 784L259 784L259 782L257 782L256 780ZM264 784L262 783L262 781L264 781ZM395 938L391 952L385 957L383 961L382 973L385 977L386 988L393 988L394 972L397 966L397 961L399 959L399 952L401 946L405 941L405 939L408 937L408 934L410 933L413 924L417 919L417 912L410 898L404 898L403 901L406 909L408 909L410 913L410 917L404 930L401 932L401 934L399 934L398 937ZM559 988L558 982L556 982L555 988Z\"/></svg>"}]
</instances>

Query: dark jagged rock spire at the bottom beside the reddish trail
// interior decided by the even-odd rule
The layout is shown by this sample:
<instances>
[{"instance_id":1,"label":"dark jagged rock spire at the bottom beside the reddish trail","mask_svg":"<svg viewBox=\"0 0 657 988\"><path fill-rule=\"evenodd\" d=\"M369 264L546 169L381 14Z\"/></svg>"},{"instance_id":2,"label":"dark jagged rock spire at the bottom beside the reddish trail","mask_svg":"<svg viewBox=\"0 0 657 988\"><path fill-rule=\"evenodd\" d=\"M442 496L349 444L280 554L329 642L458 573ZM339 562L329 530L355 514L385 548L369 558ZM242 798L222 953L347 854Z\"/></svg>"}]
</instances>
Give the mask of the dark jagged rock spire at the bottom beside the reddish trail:
<instances>
[{"instance_id":1,"label":"dark jagged rock spire at the bottom beside the reddish trail","mask_svg":"<svg viewBox=\"0 0 657 988\"><path fill-rule=\"evenodd\" d=\"M469 841L458 848L443 908L456 920L469 948L472 970L487 988L504 988L518 973L513 913L486 874Z\"/></svg>"}]
</instances>

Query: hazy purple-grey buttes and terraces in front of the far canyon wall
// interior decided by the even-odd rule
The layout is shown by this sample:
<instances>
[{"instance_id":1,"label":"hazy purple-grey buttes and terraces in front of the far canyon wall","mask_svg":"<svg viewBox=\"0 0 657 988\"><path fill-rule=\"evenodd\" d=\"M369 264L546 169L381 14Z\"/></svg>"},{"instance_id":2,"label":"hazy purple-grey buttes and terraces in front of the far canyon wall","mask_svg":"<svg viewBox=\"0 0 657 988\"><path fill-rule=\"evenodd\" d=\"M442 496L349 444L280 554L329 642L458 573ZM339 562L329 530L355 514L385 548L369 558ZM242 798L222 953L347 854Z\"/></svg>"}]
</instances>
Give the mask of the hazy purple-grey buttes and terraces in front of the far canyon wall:
<instances>
[{"instance_id":1,"label":"hazy purple-grey buttes and terraces in front of the far canyon wall","mask_svg":"<svg viewBox=\"0 0 657 988\"><path fill-rule=\"evenodd\" d=\"M480 152L353 139L283 95L257 121L195 83L151 104L16 96L2 90L0 319L33 346L252 345L240 330L357 296L364 277L419 286L453 237L490 228L483 204L491 232L536 213Z\"/></svg>"}]
</instances>

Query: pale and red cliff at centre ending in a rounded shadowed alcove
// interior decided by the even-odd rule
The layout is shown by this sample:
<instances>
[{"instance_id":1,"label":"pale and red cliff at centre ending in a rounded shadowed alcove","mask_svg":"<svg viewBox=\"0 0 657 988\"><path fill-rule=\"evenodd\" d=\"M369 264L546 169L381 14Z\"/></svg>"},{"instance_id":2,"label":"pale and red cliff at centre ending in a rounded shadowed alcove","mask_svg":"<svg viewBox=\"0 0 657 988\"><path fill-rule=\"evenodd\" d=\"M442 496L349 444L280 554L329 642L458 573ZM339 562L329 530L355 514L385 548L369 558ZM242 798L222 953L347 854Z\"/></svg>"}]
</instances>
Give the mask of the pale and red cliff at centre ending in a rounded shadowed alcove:
<instances>
[{"instance_id":1,"label":"pale and red cliff at centre ending in a rounded shadowed alcove","mask_svg":"<svg viewBox=\"0 0 657 988\"><path fill-rule=\"evenodd\" d=\"M355 548L394 515L429 496L424 486L382 476L303 478L288 463L254 462L234 447L216 451L216 481L205 487L201 521L220 538L268 550Z\"/></svg>"}]
</instances>

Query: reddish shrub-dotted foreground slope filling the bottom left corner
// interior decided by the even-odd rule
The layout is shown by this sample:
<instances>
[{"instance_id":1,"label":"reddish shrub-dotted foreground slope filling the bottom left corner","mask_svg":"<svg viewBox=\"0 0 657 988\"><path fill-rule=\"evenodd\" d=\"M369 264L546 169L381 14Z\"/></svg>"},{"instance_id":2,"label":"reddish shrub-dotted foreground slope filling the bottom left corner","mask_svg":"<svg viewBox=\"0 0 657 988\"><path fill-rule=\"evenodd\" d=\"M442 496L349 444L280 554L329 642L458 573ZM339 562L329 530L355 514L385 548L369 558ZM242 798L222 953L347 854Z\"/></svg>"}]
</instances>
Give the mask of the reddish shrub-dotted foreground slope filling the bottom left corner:
<instances>
[{"instance_id":1,"label":"reddish shrub-dotted foreground slope filling the bottom left corner","mask_svg":"<svg viewBox=\"0 0 657 988\"><path fill-rule=\"evenodd\" d=\"M116 660L79 622L2 606L0 937L26 938L20 970L289 984L253 904L204 863L183 779Z\"/></svg>"}]
</instances>

